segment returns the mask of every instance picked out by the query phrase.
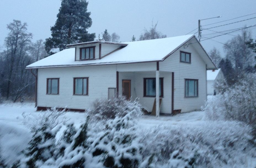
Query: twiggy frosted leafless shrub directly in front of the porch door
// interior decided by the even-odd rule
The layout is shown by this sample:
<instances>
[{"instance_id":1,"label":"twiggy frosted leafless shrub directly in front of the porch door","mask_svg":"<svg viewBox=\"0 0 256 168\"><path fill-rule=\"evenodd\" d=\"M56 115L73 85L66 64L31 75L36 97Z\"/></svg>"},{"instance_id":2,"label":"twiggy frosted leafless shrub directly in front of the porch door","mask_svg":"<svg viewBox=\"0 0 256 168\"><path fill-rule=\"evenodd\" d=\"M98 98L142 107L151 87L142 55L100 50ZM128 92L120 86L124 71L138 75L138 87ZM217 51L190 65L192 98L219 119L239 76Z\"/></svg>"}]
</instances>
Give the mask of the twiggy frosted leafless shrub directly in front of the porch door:
<instances>
[{"instance_id":1,"label":"twiggy frosted leafless shrub directly in front of the porch door","mask_svg":"<svg viewBox=\"0 0 256 168\"><path fill-rule=\"evenodd\" d=\"M106 120L116 117L124 117L134 109L140 112L140 104L138 101L126 100L126 97L117 97L110 100L96 100L88 114L92 119Z\"/></svg>"}]
</instances>

